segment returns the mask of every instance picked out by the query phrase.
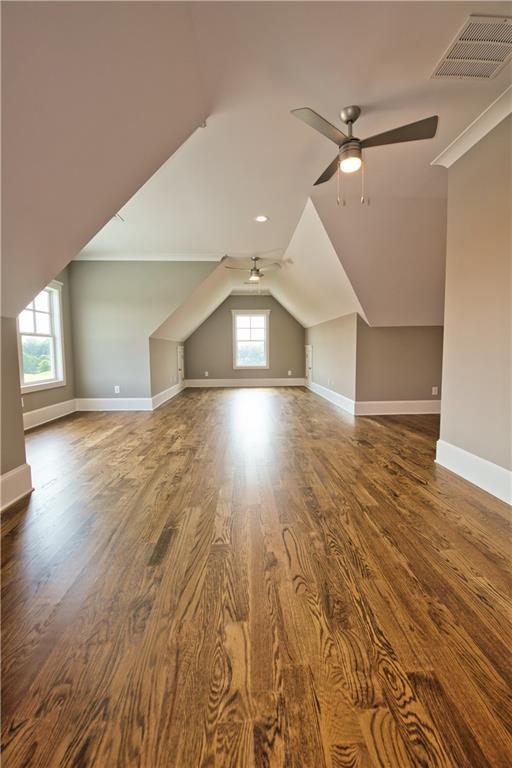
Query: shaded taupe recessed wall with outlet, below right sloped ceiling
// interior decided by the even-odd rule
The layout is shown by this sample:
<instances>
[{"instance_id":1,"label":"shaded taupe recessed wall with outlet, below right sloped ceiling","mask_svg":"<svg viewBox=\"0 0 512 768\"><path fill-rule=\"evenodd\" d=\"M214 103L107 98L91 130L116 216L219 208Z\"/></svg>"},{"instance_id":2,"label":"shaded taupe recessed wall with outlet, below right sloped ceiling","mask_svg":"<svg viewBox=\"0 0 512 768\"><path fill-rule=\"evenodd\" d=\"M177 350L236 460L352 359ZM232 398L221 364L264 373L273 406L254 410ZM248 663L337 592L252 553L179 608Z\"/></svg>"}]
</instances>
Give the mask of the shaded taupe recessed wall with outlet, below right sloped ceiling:
<instances>
[{"instance_id":1,"label":"shaded taupe recessed wall with outlet, below right sloped ceiling","mask_svg":"<svg viewBox=\"0 0 512 768\"><path fill-rule=\"evenodd\" d=\"M442 326L370 328L358 317L356 400L439 400L442 358Z\"/></svg>"}]
</instances>

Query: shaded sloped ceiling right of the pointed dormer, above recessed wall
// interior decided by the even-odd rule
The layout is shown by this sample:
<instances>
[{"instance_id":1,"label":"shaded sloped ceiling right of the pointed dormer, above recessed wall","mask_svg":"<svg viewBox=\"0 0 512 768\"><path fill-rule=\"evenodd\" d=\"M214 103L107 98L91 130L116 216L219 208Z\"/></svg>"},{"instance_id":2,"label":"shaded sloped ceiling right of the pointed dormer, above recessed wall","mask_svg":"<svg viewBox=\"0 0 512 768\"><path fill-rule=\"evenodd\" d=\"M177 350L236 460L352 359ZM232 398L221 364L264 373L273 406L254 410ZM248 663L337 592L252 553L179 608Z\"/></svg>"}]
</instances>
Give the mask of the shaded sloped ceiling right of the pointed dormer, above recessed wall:
<instances>
[{"instance_id":1,"label":"shaded sloped ceiling right of the pointed dormer, above recessed wall","mask_svg":"<svg viewBox=\"0 0 512 768\"><path fill-rule=\"evenodd\" d=\"M314 197L370 325L442 325L446 201L376 197L339 208Z\"/></svg>"}]
</instances>

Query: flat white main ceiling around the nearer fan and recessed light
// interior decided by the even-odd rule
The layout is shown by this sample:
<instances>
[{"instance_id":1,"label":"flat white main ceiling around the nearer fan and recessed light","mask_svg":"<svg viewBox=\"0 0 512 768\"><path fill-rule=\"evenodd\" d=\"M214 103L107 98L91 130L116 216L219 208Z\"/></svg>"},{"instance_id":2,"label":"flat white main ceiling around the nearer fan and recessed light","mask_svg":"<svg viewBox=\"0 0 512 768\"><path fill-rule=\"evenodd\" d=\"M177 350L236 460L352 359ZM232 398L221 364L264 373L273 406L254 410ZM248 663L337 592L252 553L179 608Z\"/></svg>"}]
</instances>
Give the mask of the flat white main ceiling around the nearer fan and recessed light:
<instances>
[{"instance_id":1,"label":"flat white main ceiling around the nearer fan and recessed light","mask_svg":"<svg viewBox=\"0 0 512 768\"><path fill-rule=\"evenodd\" d=\"M254 252L288 245L312 183L335 146L289 114L332 122L358 103L362 136L431 114L432 141L367 151L375 197L445 197L430 161L510 81L431 80L469 13L509 3L193 3L198 60L213 105L208 125L122 208L88 252ZM341 124L340 124L341 125ZM351 191L358 195L357 179ZM335 181L327 185L335 195ZM266 225L253 217L265 213Z\"/></svg>"}]
</instances>

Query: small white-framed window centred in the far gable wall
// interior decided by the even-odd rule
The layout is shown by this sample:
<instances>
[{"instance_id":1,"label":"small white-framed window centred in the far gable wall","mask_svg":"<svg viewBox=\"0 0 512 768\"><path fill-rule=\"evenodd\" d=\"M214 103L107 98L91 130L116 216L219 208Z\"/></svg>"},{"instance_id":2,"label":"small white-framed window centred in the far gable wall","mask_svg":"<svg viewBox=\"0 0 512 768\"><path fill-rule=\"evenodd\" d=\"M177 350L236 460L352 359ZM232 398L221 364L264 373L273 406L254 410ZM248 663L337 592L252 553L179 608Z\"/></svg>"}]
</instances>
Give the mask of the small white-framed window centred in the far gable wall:
<instances>
[{"instance_id":1,"label":"small white-framed window centred in the far gable wall","mask_svg":"<svg viewBox=\"0 0 512 768\"><path fill-rule=\"evenodd\" d=\"M233 368L268 368L269 309L234 309Z\"/></svg>"}]
</instances>

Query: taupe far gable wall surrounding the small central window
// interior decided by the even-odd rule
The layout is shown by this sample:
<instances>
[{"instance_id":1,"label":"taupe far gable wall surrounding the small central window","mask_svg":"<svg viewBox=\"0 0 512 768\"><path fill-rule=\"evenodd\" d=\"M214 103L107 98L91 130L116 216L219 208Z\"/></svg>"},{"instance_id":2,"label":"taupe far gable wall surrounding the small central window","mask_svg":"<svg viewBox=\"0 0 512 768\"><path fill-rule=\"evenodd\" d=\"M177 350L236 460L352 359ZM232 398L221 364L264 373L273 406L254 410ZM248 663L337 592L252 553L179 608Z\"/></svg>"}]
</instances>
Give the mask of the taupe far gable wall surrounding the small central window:
<instances>
[{"instance_id":1,"label":"taupe far gable wall surrounding the small central window","mask_svg":"<svg viewBox=\"0 0 512 768\"><path fill-rule=\"evenodd\" d=\"M270 368L233 368L232 309L270 309ZM304 376L304 328L272 296L228 296L185 342L187 379Z\"/></svg>"}]
</instances>

